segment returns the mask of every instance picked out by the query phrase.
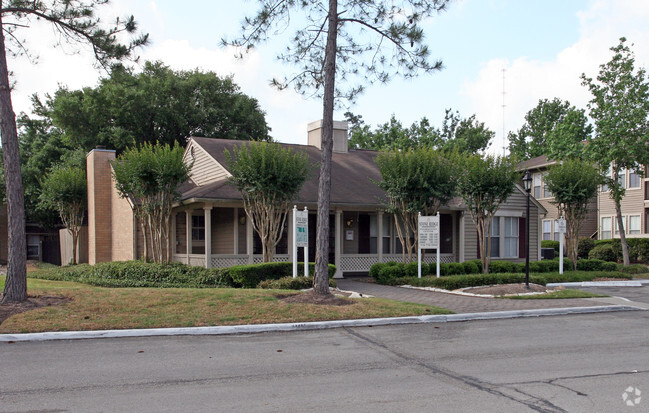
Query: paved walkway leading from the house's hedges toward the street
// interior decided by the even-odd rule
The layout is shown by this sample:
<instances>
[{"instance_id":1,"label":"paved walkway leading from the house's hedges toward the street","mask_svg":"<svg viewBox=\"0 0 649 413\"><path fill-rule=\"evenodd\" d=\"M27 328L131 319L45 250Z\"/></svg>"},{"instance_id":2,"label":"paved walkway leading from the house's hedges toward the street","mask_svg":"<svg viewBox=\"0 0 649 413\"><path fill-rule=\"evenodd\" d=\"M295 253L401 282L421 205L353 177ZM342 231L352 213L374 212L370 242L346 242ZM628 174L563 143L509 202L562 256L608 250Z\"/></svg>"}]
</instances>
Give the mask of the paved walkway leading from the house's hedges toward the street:
<instances>
[{"instance_id":1,"label":"paved walkway leading from the house's hedges toward the street","mask_svg":"<svg viewBox=\"0 0 649 413\"><path fill-rule=\"evenodd\" d=\"M392 287L359 281L354 278L336 280L338 288L345 291L356 291L361 294L380 298L433 305L446 308L456 313L483 313L492 311L517 311L547 308L596 307L608 305L595 298L568 298L544 300L510 300L501 298L470 297L414 288ZM628 302L626 303L629 304Z\"/></svg>"}]
</instances>

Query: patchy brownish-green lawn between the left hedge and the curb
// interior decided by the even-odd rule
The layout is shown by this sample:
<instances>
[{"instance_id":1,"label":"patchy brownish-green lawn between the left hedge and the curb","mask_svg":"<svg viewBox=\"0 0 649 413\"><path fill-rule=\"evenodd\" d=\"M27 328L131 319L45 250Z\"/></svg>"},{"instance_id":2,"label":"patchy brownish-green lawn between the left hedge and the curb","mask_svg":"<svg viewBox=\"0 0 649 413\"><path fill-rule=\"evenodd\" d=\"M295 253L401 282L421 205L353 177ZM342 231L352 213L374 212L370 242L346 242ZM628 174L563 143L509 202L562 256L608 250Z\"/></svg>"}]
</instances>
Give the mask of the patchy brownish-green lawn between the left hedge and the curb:
<instances>
[{"instance_id":1,"label":"patchy brownish-green lawn between the left hedge and the curb","mask_svg":"<svg viewBox=\"0 0 649 413\"><path fill-rule=\"evenodd\" d=\"M4 277L0 277L4 285ZM16 314L2 333L128 328L195 327L308 322L410 315L449 314L448 310L379 298L353 305L284 303L289 290L232 288L103 288L70 281L27 280L30 296L64 296L70 302ZM299 293L297 293L299 294Z\"/></svg>"}]
</instances>

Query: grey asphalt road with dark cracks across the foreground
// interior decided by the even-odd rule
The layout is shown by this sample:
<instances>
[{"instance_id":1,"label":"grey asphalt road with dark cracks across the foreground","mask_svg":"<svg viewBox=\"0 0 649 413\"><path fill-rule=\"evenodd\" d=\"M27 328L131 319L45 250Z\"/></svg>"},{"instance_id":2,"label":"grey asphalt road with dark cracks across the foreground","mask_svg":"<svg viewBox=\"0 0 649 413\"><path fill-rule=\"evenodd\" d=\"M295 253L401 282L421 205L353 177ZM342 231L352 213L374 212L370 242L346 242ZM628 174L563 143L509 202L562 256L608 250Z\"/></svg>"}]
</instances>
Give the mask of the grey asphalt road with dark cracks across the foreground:
<instances>
[{"instance_id":1,"label":"grey asphalt road with dark cracks across the foreground","mask_svg":"<svg viewBox=\"0 0 649 413\"><path fill-rule=\"evenodd\" d=\"M0 412L649 410L646 311L0 343ZM636 406L623 394L639 389Z\"/></svg>"}]
</instances>

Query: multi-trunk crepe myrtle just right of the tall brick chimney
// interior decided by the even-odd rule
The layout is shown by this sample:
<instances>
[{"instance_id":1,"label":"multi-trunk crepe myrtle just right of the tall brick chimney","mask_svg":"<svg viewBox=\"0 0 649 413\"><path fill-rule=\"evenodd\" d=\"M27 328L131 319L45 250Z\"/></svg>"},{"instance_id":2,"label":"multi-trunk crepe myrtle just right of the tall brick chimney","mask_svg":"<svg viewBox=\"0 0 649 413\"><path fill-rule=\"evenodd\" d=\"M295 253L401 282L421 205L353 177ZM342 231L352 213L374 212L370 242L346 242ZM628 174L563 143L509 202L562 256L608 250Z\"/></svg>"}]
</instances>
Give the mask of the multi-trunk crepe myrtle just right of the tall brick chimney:
<instances>
[{"instance_id":1,"label":"multi-trunk crepe myrtle just right of the tall brick chimney","mask_svg":"<svg viewBox=\"0 0 649 413\"><path fill-rule=\"evenodd\" d=\"M189 179L191 163L183 148L145 143L124 151L112 163L115 188L130 201L144 236L144 258L169 262L171 211L180 199L178 187Z\"/></svg>"}]
</instances>

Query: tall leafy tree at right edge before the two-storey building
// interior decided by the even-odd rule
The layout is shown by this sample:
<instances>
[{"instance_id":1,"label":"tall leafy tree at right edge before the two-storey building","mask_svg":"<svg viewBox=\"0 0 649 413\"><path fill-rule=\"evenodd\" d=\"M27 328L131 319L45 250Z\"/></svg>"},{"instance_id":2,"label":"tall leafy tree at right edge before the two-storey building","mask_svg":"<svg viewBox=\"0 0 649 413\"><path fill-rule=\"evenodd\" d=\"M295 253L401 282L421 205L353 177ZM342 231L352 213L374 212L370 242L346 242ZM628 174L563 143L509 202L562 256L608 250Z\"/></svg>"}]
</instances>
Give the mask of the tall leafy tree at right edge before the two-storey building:
<instances>
[{"instance_id":1,"label":"tall leafy tree at right edge before the two-storey building","mask_svg":"<svg viewBox=\"0 0 649 413\"><path fill-rule=\"evenodd\" d=\"M624 171L641 174L649 164L649 81L645 69L635 69L635 57L624 37L611 48L613 57L600 65L597 80L581 75L593 98L588 103L595 123L595 136L586 145L587 157L606 174L605 183L615 204L624 265L629 265L629 247L622 220L625 195Z\"/></svg>"}]
</instances>

